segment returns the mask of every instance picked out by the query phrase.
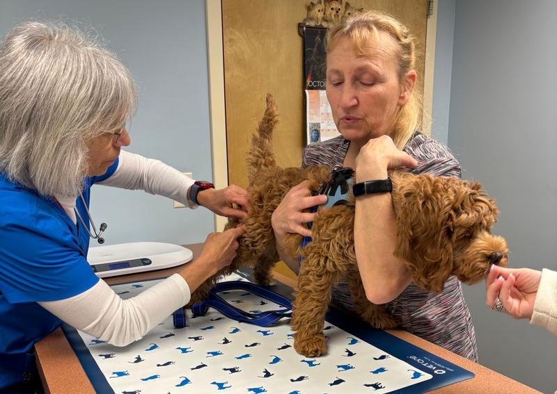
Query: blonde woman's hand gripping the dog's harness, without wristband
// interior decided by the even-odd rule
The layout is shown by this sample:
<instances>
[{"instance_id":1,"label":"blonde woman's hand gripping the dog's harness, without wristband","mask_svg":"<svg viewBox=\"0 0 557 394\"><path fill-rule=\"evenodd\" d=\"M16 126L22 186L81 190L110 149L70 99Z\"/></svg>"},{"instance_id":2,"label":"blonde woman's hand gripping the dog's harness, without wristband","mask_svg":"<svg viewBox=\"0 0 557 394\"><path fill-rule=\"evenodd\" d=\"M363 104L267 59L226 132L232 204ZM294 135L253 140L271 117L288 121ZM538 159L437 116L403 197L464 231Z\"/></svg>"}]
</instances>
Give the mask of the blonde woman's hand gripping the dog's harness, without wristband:
<instances>
[{"instance_id":1,"label":"blonde woman's hand gripping the dog's harness, without wristband","mask_svg":"<svg viewBox=\"0 0 557 394\"><path fill-rule=\"evenodd\" d=\"M305 224L313 222L317 213L304 212L304 210L326 202L327 196L311 195L307 181L294 186L286 193L271 217L276 238L282 239L287 233L311 236L311 230Z\"/></svg>"}]
</instances>

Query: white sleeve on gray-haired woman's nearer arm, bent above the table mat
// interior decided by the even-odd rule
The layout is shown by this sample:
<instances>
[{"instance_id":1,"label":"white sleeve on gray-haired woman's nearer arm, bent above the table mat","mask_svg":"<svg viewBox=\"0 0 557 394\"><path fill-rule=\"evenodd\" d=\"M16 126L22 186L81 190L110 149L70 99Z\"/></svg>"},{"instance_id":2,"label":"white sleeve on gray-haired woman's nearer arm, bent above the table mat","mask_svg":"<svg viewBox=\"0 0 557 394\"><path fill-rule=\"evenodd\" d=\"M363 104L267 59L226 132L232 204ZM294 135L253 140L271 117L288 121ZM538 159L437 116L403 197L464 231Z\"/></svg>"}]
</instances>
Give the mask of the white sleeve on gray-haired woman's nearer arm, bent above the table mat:
<instances>
[{"instance_id":1,"label":"white sleeve on gray-haired woman's nearer arm, bent above the table mat","mask_svg":"<svg viewBox=\"0 0 557 394\"><path fill-rule=\"evenodd\" d=\"M100 280L92 288L74 297L38 304L76 329L125 346L147 332L189 302L190 290L179 274L173 274L140 295L121 299Z\"/></svg>"}]
</instances>

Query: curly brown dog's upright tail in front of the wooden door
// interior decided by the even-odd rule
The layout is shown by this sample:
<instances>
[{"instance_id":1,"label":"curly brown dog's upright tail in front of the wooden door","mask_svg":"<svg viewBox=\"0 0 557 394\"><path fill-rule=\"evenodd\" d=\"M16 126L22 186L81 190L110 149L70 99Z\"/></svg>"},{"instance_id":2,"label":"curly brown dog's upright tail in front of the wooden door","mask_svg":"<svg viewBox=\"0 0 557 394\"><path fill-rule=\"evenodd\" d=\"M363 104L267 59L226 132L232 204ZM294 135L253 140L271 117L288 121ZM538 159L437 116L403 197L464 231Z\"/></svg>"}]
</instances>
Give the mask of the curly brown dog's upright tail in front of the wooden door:
<instances>
[{"instance_id":1,"label":"curly brown dog's upright tail in front of the wooden door","mask_svg":"<svg viewBox=\"0 0 557 394\"><path fill-rule=\"evenodd\" d=\"M273 129L278 123L278 111L272 95L267 94L267 108L260 120L257 134L251 136L251 147L247 154L249 185L253 185L258 170L264 167L276 167L273 151Z\"/></svg>"}]
</instances>

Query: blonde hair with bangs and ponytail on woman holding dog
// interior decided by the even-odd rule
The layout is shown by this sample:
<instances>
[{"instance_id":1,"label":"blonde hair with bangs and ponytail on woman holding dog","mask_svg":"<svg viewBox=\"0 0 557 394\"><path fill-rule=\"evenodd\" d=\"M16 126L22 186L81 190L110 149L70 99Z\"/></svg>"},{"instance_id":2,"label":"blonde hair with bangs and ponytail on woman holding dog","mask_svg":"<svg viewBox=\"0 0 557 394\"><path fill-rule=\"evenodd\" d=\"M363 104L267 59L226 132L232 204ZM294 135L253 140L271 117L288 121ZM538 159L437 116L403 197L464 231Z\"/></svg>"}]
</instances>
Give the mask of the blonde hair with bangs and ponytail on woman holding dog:
<instances>
[{"instance_id":1,"label":"blonde hair with bangs and ponytail on woman holding dog","mask_svg":"<svg viewBox=\"0 0 557 394\"><path fill-rule=\"evenodd\" d=\"M327 53L336 47L339 40L348 38L354 44L355 53L358 56L366 56L369 40L377 40L379 31L391 35L398 44L398 53L395 56L398 60L398 77L402 82L407 72L416 67L414 37L404 24L389 14L364 11L343 20L327 33ZM414 90L407 103L398 111L391 138L399 149L405 147L414 131L421 128L421 102L420 93Z\"/></svg>"}]
</instances>

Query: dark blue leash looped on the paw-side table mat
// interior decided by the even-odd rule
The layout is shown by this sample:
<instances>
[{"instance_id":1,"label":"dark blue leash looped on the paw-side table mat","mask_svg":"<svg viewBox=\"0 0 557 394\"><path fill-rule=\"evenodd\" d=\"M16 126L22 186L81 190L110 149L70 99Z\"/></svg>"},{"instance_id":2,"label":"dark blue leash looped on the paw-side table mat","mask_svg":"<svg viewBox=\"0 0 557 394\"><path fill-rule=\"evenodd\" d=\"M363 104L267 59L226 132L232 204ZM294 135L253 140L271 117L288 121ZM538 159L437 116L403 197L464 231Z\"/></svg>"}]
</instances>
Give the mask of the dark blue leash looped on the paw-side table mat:
<instances>
[{"instance_id":1,"label":"dark blue leash looped on the paw-side table mat","mask_svg":"<svg viewBox=\"0 0 557 394\"><path fill-rule=\"evenodd\" d=\"M246 290L250 293L272 301L275 304L281 305L285 309L265 311L261 313L249 313L246 311L242 311L242 309L228 304L228 302L226 302L226 300L219 295L219 293L226 290ZM292 302L290 302L290 299L247 281L227 281L216 284L209 291L207 299L205 299L205 301L197 302L196 304L194 304L194 306L191 307L191 311L194 313L194 315L205 315L209 308L216 309L227 318L237 320L239 322L249 323L252 325L258 325L260 327L270 327L276 325L278 320L280 320L281 318L290 318L292 316ZM177 320L178 322L182 321L179 311L182 311L183 313L182 309L179 309L174 313L175 322ZM176 313L178 313L178 319L175 316Z\"/></svg>"}]
</instances>

